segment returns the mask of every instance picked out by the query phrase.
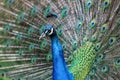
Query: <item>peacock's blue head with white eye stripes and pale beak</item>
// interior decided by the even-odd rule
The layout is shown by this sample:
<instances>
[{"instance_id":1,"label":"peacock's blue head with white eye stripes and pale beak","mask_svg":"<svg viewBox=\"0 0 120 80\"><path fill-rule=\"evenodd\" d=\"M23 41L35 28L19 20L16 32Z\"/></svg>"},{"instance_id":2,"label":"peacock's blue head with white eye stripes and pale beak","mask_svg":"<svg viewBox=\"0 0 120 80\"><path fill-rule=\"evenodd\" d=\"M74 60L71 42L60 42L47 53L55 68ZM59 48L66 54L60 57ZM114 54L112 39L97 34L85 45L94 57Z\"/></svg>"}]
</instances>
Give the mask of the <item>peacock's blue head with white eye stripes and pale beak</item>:
<instances>
[{"instance_id":1,"label":"peacock's blue head with white eye stripes and pale beak","mask_svg":"<svg viewBox=\"0 0 120 80\"><path fill-rule=\"evenodd\" d=\"M39 37L39 39L45 37L45 36L49 36L49 37L53 37L56 34L55 29L53 28L52 25L46 25L43 28L42 34Z\"/></svg>"}]
</instances>

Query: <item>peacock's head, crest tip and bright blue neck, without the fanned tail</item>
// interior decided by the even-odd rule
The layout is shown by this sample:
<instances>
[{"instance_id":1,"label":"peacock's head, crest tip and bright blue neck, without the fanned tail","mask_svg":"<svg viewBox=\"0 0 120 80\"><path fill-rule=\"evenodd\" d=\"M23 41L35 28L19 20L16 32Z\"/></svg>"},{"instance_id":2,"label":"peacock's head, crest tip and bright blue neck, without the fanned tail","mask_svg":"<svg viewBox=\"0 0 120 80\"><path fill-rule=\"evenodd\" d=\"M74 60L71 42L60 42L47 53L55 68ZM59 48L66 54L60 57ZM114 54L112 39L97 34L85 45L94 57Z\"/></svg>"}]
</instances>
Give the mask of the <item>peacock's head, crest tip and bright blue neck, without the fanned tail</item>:
<instances>
[{"instance_id":1,"label":"peacock's head, crest tip and bright blue neck, without the fanned tail","mask_svg":"<svg viewBox=\"0 0 120 80\"><path fill-rule=\"evenodd\" d=\"M51 15L54 16L54 15ZM56 31L52 25L46 25L39 39L49 35L52 42L52 61L53 61L53 80L73 80L73 75L68 72L66 67L64 52L59 42Z\"/></svg>"}]
</instances>

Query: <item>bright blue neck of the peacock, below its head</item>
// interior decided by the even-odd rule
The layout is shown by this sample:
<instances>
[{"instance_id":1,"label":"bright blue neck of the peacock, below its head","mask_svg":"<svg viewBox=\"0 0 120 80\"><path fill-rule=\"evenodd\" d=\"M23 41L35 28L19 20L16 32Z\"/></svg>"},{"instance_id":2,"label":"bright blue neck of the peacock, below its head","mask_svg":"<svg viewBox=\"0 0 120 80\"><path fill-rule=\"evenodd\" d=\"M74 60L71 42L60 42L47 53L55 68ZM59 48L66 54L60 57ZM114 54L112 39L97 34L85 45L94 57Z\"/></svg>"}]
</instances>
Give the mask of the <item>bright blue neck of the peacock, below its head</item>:
<instances>
[{"instance_id":1,"label":"bright blue neck of the peacock, below its head","mask_svg":"<svg viewBox=\"0 0 120 80\"><path fill-rule=\"evenodd\" d=\"M67 70L62 46L57 35L51 37L52 60L53 60L53 80L73 80Z\"/></svg>"}]
</instances>

